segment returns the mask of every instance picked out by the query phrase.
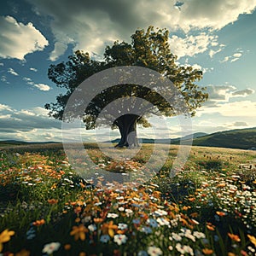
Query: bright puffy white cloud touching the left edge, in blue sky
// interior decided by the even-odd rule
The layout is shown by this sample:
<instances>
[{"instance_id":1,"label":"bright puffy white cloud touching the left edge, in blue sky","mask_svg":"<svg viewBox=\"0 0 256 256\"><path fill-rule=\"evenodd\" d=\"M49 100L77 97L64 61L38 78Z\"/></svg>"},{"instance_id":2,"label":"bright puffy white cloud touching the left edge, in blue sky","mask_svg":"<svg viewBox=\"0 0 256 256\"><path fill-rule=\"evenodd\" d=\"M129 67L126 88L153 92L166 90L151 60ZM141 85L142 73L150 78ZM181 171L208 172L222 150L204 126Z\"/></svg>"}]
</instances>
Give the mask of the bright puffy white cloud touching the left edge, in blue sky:
<instances>
[{"instance_id":1,"label":"bright puffy white cloud touching the left edge, in blue sky","mask_svg":"<svg viewBox=\"0 0 256 256\"><path fill-rule=\"evenodd\" d=\"M25 55L43 50L48 41L31 22L23 24L11 16L0 16L0 57L24 60Z\"/></svg>"}]
</instances>

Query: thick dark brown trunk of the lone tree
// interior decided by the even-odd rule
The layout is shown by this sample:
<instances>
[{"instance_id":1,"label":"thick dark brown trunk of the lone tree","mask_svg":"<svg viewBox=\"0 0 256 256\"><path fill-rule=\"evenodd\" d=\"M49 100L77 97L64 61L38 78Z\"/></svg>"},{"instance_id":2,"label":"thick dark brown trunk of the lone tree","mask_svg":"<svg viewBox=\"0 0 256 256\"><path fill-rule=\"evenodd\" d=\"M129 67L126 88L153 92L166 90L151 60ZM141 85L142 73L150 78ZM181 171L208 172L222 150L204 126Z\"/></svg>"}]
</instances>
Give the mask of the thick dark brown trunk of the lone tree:
<instances>
[{"instance_id":1,"label":"thick dark brown trunk of the lone tree","mask_svg":"<svg viewBox=\"0 0 256 256\"><path fill-rule=\"evenodd\" d=\"M137 139L137 120L139 116L136 114L125 114L120 116L115 120L114 124L119 127L121 139L119 143L115 146L118 148L130 148L130 147L138 147L138 139Z\"/></svg>"}]
</instances>

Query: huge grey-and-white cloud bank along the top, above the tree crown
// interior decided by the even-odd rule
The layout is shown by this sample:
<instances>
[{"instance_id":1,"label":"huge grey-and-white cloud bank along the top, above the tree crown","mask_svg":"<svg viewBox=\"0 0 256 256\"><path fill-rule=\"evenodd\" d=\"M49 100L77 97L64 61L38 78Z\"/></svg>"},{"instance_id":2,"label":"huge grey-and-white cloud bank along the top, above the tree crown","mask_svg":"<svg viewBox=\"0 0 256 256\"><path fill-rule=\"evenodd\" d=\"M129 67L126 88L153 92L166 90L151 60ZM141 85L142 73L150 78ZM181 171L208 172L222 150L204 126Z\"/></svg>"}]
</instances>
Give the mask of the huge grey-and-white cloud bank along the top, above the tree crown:
<instances>
[{"instance_id":1,"label":"huge grey-and-white cloud bank along the top, above the tree crown","mask_svg":"<svg viewBox=\"0 0 256 256\"><path fill-rule=\"evenodd\" d=\"M104 46L113 40L130 40L131 33L137 27L154 25L167 27L171 32L180 29L184 32L219 30L235 22L239 15L251 14L256 7L256 0L183 0L181 3L138 0L135 4L119 0L27 1L32 3L36 14L52 18L50 26L55 35L55 49L49 56L52 61L66 51L68 44L73 44L74 49L102 54ZM191 39L195 41L190 42ZM204 52L210 44L204 34L199 34L197 38L178 40L174 37L172 40L180 44L174 49L176 52L182 53L183 47L188 55L191 55L192 49L197 53ZM189 46L184 46L187 43ZM200 44L200 47L195 44ZM216 42L211 45L217 46Z\"/></svg>"}]
</instances>

